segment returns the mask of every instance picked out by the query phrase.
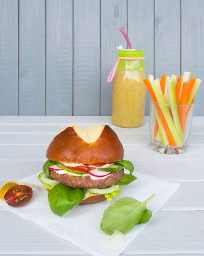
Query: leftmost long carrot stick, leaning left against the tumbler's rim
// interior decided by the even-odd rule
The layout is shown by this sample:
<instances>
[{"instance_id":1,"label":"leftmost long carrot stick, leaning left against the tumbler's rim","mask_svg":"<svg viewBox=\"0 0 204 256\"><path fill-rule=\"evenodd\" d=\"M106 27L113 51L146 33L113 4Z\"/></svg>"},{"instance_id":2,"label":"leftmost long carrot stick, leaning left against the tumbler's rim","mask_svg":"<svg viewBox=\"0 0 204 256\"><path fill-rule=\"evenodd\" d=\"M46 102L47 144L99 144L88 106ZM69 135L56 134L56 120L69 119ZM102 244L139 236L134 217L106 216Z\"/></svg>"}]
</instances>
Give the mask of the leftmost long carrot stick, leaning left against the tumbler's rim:
<instances>
[{"instance_id":1,"label":"leftmost long carrot stick, leaning left against the tumbler's rim","mask_svg":"<svg viewBox=\"0 0 204 256\"><path fill-rule=\"evenodd\" d=\"M156 96L155 96L155 93L154 93L154 91L153 91L153 89L152 89L152 86L151 86L150 81L147 80L147 79L144 79L143 81L144 81L144 84L145 84L146 87L147 87L147 90L149 91L150 96L152 97L153 102L158 102L158 101L157 101L157 98L156 98ZM168 124L167 124L167 121L166 121L166 119L165 119L165 117L164 117L164 114L163 114L162 111L161 111L161 108L159 107L158 104L155 104L155 108L157 109L158 114L159 114L159 116L160 116L161 122L162 122L163 127L164 127L164 131L165 131L166 136L167 136L167 140L169 141L170 145L176 147L177 145L176 145L176 143L175 143L174 138L172 137L170 128L169 128L169 126L168 126Z\"/></svg>"}]
</instances>

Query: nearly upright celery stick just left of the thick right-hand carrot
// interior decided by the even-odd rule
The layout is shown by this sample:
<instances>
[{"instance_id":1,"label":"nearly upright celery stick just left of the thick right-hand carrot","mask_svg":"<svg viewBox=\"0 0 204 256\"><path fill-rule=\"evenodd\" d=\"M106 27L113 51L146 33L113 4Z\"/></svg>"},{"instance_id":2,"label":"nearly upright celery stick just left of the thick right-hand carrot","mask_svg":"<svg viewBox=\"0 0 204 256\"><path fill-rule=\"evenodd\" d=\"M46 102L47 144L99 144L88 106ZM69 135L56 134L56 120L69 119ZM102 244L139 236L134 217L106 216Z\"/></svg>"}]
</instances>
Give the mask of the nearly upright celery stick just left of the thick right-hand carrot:
<instances>
[{"instance_id":1,"label":"nearly upright celery stick just left of the thick right-hand carrot","mask_svg":"<svg viewBox=\"0 0 204 256\"><path fill-rule=\"evenodd\" d=\"M175 93L175 81L174 79L170 79L168 81L168 92L169 92L169 98L170 98L170 104L171 104L171 111L173 116L173 121L175 124L176 131L178 132L178 135L181 139L181 141L184 141L184 134L181 128L181 122L178 114L178 105L176 101L176 93Z\"/></svg>"}]
</instances>

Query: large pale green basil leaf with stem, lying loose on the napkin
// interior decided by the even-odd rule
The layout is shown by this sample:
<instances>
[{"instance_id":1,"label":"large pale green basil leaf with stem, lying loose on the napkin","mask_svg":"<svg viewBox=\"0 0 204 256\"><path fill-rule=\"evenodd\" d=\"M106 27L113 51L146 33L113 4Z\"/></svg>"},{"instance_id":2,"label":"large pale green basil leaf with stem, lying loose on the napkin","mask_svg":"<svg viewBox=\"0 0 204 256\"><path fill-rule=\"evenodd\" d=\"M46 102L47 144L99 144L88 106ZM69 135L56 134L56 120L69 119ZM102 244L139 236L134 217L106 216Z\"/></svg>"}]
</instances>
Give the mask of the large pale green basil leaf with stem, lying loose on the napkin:
<instances>
[{"instance_id":1,"label":"large pale green basil leaf with stem, lying loose on the napkin","mask_svg":"<svg viewBox=\"0 0 204 256\"><path fill-rule=\"evenodd\" d=\"M128 233L139 223L144 215L147 202L154 196L155 194L143 203L131 197L116 200L105 209L101 221L101 230L109 236L112 236L115 230L123 234Z\"/></svg>"}]
</instances>

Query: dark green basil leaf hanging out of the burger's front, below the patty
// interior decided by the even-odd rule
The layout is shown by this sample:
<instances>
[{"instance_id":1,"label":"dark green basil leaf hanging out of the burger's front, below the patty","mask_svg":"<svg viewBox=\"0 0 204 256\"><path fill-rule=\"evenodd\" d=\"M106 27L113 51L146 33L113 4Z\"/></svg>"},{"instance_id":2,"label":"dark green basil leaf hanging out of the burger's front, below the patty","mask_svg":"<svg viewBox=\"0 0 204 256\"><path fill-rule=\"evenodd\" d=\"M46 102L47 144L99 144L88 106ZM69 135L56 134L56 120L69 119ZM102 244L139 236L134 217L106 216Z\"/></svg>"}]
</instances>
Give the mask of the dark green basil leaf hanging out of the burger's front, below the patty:
<instances>
[{"instance_id":1,"label":"dark green basil leaf hanging out of the burger's front, below the patty","mask_svg":"<svg viewBox=\"0 0 204 256\"><path fill-rule=\"evenodd\" d=\"M83 189L73 189L59 183L48 193L50 209L56 215L62 216L83 201L85 195Z\"/></svg>"}]
</instances>

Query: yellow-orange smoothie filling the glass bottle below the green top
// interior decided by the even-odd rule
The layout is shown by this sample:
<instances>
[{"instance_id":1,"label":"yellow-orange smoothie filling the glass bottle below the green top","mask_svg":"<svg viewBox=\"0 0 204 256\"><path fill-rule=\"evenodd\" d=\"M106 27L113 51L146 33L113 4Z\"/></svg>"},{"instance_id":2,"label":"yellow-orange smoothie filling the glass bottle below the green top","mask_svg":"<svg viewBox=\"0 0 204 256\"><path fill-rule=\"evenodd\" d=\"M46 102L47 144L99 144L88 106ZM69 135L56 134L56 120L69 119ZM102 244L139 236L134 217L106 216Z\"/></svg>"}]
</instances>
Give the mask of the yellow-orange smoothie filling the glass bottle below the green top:
<instances>
[{"instance_id":1,"label":"yellow-orange smoothie filling the glass bottle below the green top","mask_svg":"<svg viewBox=\"0 0 204 256\"><path fill-rule=\"evenodd\" d=\"M117 70L113 81L112 123L136 128L144 123L146 86L144 70Z\"/></svg>"}]
</instances>

